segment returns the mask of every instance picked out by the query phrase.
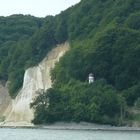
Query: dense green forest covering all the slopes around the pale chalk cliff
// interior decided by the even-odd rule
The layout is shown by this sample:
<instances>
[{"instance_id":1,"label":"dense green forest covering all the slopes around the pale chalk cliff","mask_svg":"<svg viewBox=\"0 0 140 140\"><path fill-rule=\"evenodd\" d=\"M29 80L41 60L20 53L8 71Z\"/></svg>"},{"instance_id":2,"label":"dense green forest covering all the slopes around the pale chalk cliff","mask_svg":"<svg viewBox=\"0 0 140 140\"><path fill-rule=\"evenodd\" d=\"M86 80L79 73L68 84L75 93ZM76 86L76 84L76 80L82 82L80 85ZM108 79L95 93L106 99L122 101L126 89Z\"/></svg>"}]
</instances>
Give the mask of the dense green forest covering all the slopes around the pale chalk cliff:
<instances>
[{"instance_id":1,"label":"dense green forest covering all the slopes around the pale chalk cliff","mask_svg":"<svg viewBox=\"0 0 140 140\"><path fill-rule=\"evenodd\" d=\"M0 79L15 98L23 74L56 44L70 50L51 71L52 88L31 104L33 123L140 122L140 1L81 0L56 16L0 17ZM88 74L95 82L88 84ZM48 105L49 102L49 105Z\"/></svg>"}]
</instances>

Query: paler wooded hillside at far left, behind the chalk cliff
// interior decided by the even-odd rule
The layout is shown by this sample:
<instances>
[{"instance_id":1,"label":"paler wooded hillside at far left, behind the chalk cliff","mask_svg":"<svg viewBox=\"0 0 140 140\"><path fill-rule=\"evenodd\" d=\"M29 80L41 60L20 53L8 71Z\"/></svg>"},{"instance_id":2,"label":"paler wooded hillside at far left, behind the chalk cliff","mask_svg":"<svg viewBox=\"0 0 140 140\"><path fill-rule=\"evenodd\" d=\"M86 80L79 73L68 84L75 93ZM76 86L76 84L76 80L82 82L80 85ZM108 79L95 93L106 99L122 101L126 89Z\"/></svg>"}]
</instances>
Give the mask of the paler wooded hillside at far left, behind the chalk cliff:
<instances>
[{"instance_id":1,"label":"paler wooded hillside at far left, behind the chalk cliff","mask_svg":"<svg viewBox=\"0 0 140 140\"><path fill-rule=\"evenodd\" d=\"M25 42L43 23L44 19L30 15L0 17L0 80L13 83L9 85L11 96L22 86L25 61L31 54Z\"/></svg>"}]
</instances>

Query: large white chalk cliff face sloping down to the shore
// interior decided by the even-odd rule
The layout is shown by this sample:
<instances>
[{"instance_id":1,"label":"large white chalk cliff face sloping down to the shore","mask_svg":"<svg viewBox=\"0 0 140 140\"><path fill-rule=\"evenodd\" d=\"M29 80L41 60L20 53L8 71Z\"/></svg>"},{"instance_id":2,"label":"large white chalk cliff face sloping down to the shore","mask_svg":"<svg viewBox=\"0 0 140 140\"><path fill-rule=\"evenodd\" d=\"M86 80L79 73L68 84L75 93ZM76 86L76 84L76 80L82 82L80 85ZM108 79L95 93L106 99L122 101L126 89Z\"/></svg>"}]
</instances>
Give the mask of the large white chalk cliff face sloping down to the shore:
<instances>
[{"instance_id":1,"label":"large white chalk cliff face sloping down to the shore","mask_svg":"<svg viewBox=\"0 0 140 140\"><path fill-rule=\"evenodd\" d=\"M4 125L31 125L34 116L30 103L37 96L37 91L51 87L50 70L68 49L68 43L58 45L38 66L26 70L22 89L4 113Z\"/></svg>"}]
</instances>

